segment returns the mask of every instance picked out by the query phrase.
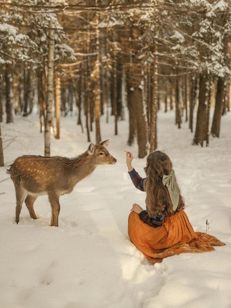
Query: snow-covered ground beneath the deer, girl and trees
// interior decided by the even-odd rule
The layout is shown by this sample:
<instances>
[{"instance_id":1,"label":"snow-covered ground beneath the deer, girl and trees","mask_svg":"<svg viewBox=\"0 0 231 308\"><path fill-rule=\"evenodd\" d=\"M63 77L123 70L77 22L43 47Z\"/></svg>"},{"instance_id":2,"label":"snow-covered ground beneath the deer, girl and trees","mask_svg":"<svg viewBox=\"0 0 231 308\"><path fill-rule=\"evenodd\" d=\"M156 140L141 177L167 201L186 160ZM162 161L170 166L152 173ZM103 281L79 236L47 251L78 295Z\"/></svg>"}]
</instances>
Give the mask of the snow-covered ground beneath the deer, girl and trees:
<instances>
[{"instance_id":1,"label":"snow-covered ground beneath the deer, girl and trees","mask_svg":"<svg viewBox=\"0 0 231 308\"><path fill-rule=\"evenodd\" d=\"M181 254L150 265L127 235L133 203L145 204L126 168L128 123L102 119L102 139L113 166L99 166L60 197L59 227L50 227L47 196L35 202L33 220L23 204L15 223L15 191L0 168L0 308L230 308L231 307L231 113L222 117L220 139L210 147L192 146L184 123L174 126L172 112L158 114L158 149L173 161L195 231L206 231L226 243L215 251ZM36 115L17 116L1 124L4 161L22 154L43 155L43 134ZM94 134L92 140L94 140ZM8 140L8 141L7 141ZM76 117L61 118L61 139L52 137L51 154L73 157L89 143ZM137 157L134 145L130 150ZM134 160L144 175L145 158Z\"/></svg>"}]
</instances>

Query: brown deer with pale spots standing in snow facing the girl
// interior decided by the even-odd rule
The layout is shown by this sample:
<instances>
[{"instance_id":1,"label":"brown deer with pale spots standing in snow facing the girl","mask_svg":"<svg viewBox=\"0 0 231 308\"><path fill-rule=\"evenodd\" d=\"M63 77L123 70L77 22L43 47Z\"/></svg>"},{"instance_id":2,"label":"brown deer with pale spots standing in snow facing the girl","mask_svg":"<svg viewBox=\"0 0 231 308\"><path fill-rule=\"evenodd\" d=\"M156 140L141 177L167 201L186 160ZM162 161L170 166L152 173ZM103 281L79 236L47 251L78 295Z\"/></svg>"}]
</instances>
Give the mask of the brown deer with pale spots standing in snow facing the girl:
<instances>
[{"instance_id":1,"label":"brown deer with pale spots standing in snow facing the girl","mask_svg":"<svg viewBox=\"0 0 231 308\"><path fill-rule=\"evenodd\" d=\"M91 143L86 152L73 158L63 156L23 155L16 158L6 170L10 174L16 193L16 223L22 203L31 218L37 219L34 202L39 195L48 195L51 205L51 226L58 227L59 196L71 193L76 184L93 173L98 165L113 165L116 158L107 150L109 139Z\"/></svg>"}]
</instances>

